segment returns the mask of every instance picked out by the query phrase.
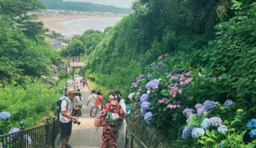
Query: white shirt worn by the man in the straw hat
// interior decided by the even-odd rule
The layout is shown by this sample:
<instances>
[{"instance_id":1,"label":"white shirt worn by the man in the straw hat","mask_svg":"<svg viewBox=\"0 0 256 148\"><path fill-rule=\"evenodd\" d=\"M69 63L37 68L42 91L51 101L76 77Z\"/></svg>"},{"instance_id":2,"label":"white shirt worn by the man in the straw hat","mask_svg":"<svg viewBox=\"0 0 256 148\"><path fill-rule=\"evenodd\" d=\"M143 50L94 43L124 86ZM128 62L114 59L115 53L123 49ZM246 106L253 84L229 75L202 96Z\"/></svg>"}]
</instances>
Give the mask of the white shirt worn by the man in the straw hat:
<instances>
[{"instance_id":1,"label":"white shirt worn by the man in the straw hat","mask_svg":"<svg viewBox=\"0 0 256 148\"><path fill-rule=\"evenodd\" d=\"M69 97L66 97L66 100L63 99L61 102L61 111L65 111L65 113L71 115L73 108L75 107L75 104L73 101L69 99ZM67 102L69 102L68 106L67 106ZM68 118L63 116L62 114L59 114L59 121L63 123L67 123L71 121L71 118Z\"/></svg>"}]
</instances>

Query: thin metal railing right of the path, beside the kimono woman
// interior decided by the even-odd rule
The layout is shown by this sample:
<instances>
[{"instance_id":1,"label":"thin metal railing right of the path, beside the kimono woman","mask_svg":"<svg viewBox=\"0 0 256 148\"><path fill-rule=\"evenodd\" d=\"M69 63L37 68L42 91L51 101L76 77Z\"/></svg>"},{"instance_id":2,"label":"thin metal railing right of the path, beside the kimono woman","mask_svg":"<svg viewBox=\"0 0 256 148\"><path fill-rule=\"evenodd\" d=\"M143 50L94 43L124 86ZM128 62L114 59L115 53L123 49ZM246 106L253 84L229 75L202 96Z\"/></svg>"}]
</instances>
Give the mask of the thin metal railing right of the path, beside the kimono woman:
<instances>
[{"instance_id":1,"label":"thin metal railing right of the path, beside the kimono woman","mask_svg":"<svg viewBox=\"0 0 256 148\"><path fill-rule=\"evenodd\" d=\"M129 148L137 148L137 147L144 147L148 148L134 133L126 129L126 140L125 145Z\"/></svg>"}]
</instances>

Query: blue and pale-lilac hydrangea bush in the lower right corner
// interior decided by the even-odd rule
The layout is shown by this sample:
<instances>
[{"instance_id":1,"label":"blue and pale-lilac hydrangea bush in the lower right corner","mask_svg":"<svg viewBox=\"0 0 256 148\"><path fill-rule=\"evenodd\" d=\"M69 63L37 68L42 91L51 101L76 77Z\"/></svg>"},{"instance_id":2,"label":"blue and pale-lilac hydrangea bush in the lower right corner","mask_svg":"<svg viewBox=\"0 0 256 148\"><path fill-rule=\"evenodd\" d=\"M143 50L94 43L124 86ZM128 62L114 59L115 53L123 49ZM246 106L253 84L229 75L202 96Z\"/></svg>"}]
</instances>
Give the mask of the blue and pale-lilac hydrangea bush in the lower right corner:
<instances>
[{"instance_id":1,"label":"blue and pale-lilac hydrangea bush in the lower right corner","mask_svg":"<svg viewBox=\"0 0 256 148\"><path fill-rule=\"evenodd\" d=\"M243 141L247 131L241 122L245 112L238 110L233 118L227 120L218 114L223 108L226 111L232 110L232 104L234 104L232 100L227 100L224 104L206 100L203 104L195 104L195 110L185 108L183 114L187 116L187 125L184 126L181 137L187 143L193 143L195 147L247 147ZM200 110L204 112L198 114ZM248 128L254 125L256 127L256 120L249 122ZM235 128L238 126L241 128Z\"/></svg>"}]
</instances>

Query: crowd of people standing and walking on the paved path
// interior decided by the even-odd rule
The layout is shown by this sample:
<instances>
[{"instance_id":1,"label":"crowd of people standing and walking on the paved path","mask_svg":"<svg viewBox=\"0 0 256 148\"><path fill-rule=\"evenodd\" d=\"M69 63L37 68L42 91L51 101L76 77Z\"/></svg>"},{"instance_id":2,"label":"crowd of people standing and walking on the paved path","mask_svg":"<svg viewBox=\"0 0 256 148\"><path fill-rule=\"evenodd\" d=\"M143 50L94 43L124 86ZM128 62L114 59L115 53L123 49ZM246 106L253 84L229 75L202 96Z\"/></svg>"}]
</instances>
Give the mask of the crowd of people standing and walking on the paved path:
<instances>
[{"instance_id":1,"label":"crowd of people standing and walking on the paved path","mask_svg":"<svg viewBox=\"0 0 256 148\"><path fill-rule=\"evenodd\" d=\"M80 81L81 87L87 85L87 80ZM75 87L77 88L77 87ZM69 137L72 130L72 122L77 122L79 116L82 116L81 109L84 106L84 98L78 89L69 88L67 97L61 102L61 112L59 120L61 122L61 147L70 148ZM102 122L102 141L101 147L119 147L125 148L125 133L126 133L126 106L125 100L122 98L120 91L111 91L108 94L108 101L104 102L104 98L100 91L92 89L90 96L87 99L87 104L90 108L90 117L98 117ZM74 114L75 112L75 114Z\"/></svg>"}]
</instances>

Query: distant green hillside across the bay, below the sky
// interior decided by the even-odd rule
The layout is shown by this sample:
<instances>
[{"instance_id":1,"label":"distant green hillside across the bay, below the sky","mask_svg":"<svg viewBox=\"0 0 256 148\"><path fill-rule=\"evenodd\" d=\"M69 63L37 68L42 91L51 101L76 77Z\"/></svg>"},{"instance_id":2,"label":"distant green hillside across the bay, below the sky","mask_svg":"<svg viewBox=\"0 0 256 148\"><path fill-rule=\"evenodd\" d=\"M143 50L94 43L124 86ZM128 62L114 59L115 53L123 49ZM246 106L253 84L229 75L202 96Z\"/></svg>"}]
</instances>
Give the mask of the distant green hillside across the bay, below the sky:
<instances>
[{"instance_id":1,"label":"distant green hillside across the bay, below the sky","mask_svg":"<svg viewBox=\"0 0 256 148\"><path fill-rule=\"evenodd\" d=\"M93 3L63 1L63 0L40 0L44 3L47 9L62 9L71 11L86 11L86 12L110 12L110 13L131 13L131 9L113 7L108 5L97 5Z\"/></svg>"}]
</instances>

